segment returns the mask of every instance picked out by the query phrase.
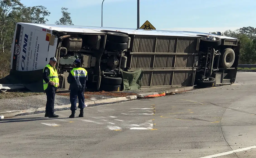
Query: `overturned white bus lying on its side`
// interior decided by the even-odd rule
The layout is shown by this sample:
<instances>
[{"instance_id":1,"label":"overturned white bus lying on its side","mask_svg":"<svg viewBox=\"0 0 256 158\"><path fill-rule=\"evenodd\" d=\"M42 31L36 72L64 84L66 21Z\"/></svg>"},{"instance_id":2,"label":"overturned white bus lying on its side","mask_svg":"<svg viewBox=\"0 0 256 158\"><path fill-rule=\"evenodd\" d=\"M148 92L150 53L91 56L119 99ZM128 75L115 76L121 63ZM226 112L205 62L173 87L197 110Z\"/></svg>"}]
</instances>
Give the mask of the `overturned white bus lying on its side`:
<instances>
[{"instance_id":1,"label":"overturned white bus lying on its side","mask_svg":"<svg viewBox=\"0 0 256 158\"><path fill-rule=\"evenodd\" d=\"M210 33L17 23L10 75L38 83L56 57L59 90L67 90L73 61L88 72L87 89L212 87L234 83L240 40Z\"/></svg>"}]
</instances>

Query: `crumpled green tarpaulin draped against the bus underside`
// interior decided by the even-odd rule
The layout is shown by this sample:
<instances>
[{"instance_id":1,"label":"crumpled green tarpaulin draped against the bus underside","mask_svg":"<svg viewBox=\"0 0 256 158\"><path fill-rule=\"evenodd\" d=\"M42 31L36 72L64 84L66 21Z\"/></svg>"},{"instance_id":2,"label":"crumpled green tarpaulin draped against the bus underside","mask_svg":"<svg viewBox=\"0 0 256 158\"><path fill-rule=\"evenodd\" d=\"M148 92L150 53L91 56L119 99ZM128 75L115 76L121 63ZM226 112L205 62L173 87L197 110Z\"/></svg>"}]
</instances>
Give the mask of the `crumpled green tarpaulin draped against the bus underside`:
<instances>
[{"instance_id":1,"label":"crumpled green tarpaulin draped against the bus underside","mask_svg":"<svg viewBox=\"0 0 256 158\"><path fill-rule=\"evenodd\" d=\"M141 80L143 76L143 70L140 68L139 70L133 72L127 72L121 70L123 75L123 90L138 90L141 87Z\"/></svg>"}]
</instances>

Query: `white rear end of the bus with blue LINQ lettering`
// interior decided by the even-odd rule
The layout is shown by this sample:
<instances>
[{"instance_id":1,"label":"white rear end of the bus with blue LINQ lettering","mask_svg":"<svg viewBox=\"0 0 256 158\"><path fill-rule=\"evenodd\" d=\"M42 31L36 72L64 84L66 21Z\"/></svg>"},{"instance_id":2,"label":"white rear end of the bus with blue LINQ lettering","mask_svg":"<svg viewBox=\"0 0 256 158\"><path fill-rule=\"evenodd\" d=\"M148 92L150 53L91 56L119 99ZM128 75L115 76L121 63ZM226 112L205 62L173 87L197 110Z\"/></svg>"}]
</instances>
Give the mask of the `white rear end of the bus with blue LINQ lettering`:
<instances>
[{"instance_id":1,"label":"white rear end of the bus with blue LINQ lettering","mask_svg":"<svg viewBox=\"0 0 256 158\"><path fill-rule=\"evenodd\" d=\"M55 56L56 46L50 46L51 37L55 44L54 36L51 36L51 33L44 31L41 27L34 27L35 29L33 29L30 25L22 25L20 28L22 32L20 31L19 39L16 38L20 42L14 46L14 57L17 55L15 57L17 62L13 60L13 66L17 63L16 70L18 71L43 69L49 62L49 56ZM17 32L19 32L19 24Z\"/></svg>"}]
</instances>

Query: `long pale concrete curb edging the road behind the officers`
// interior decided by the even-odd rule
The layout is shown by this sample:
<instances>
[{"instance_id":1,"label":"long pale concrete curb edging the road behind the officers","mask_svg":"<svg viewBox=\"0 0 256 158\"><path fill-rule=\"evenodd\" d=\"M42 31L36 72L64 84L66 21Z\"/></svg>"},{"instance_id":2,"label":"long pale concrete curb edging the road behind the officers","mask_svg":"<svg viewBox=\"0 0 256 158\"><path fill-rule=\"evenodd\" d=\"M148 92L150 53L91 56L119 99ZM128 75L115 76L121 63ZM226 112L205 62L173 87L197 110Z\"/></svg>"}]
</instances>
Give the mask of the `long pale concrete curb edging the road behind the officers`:
<instances>
[{"instance_id":1,"label":"long pale concrete curb edging the road behind the officers","mask_svg":"<svg viewBox=\"0 0 256 158\"><path fill-rule=\"evenodd\" d=\"M130 95L126 97L118 97L118 98L109 98L109 99L102 99L102 100L97 100L97 101L87 101L84 102L85 105L97 105L97 104L107 104L107 103L115 103L117 101L128 101L128 100L133 100L141 97L146 97L148 95L154 95L154 94L161 94L161 93L175 93L175 92L182 92L182 91L189 91L193 90L194 87L181 87L181 88L176 88L168 91L159 91L159 92L152 92L152 93L143 93L143 94L137 94L137 95ZM59 105L59 106L54 106L55 109L62 109L62 108L69 108L71 104L68 105ZM77 103L78 106L78 103ZM5 111L5 112L0 112L0 116L3 116L4 118L10 118L14 117L19 114L23 113L29 113L29 112L40 112L40 111L45 111L45 107L43 108L31 108L27 110L14 110L14 111Z\"/></svg>"}]
</instances>

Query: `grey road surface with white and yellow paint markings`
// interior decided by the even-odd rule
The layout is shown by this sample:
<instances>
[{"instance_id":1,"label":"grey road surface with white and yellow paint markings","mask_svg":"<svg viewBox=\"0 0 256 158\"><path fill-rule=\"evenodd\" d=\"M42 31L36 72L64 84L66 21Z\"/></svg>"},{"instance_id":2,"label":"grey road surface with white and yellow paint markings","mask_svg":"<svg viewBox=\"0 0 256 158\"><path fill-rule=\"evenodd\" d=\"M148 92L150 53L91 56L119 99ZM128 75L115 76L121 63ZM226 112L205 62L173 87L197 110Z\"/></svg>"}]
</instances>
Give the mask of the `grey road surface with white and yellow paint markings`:
<instances>
[{"instance_id":1,"label":"grey road surface with white and yellow paint markings","mask_svg":"<svg viewBox=\"0 0 256 158\"><path fill-rule=\"evenodd\" d=\"M256 73L230 86L0 121L0 157L255 158ZM76 112L78 116L79 110Z\"/></svg>"}]
</instances>

